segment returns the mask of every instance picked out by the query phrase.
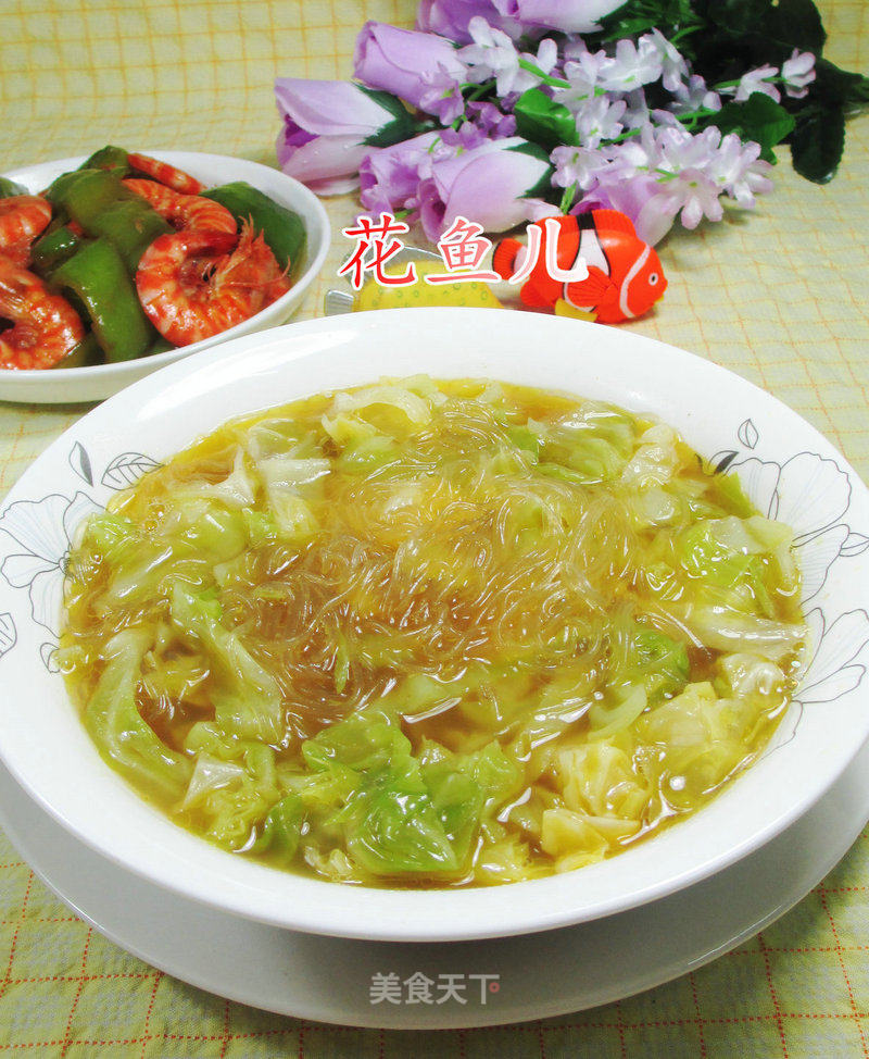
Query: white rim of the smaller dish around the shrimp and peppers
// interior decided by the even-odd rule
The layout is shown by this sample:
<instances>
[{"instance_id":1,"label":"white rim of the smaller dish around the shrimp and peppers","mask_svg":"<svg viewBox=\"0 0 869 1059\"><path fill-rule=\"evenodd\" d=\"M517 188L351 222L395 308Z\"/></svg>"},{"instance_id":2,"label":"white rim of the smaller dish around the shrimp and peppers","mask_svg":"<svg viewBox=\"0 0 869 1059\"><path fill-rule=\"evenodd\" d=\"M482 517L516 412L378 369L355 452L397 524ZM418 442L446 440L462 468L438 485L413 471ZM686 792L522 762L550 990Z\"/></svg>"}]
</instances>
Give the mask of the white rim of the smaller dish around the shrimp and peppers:
<instances>
[{"instance_id":1,"label":"white rim of the smaller dish around the shrimp and peppers","mask_svg":"<svg viewBox=\"0 0 869 1059\"><path fill-rule=\"evenodd\" d=\"M306 294L308 287L314 283L317 275L319 274L323 265L326 261L326 256L329 252L331 244L331 224L329 222L329 216L326 213L326 209L317 198L314 192L305 187L300 180L294 177L289 176L284 173L280 169L270 165L264 165L262 162L254 162L250 159L239 158L231 154L213 154L204 151L164 151L164 150L146 150L140 151L141 154L148 154L151 158L159 159L160 161L168 162L169 164L176 165L178 169L185 171L190 171L192 176L198 176L199 179L205 179L205 175L202 172L209 167L219 167L225 165L227 162L234 165L242 164L245 169L251 171L252 176L257 174L268 174L269 179L278 178L281 183L286 182L286 187L292 190L294 197L301 198L304 202L304 212L301 208L299 211L299 216L305 225L305 233L307 235L307 248L306 257L308 258L308 263L304 272L300 273L297 279L293 282L292 287L284 295L280 296L276 301L272 302L270 306L266 306L265 309L261 309L259 313L254 313L249 320L242 321L240 324L236 324L234 327L227 328L225 332L221 332L218 335L214 335L212 338L205 338L198 342L191 342L189 346L176 346L173 349L166 349L163 352L154 353L151 357L142 358L138 357L135 360L122 361L117 363L105 363L105 364L90 364L85 367L67 367L64 369L64 374L66 374L71 379L74 379L79 386L85 386L88 383L92 383L95 386L99 386L101 383L105 383L109 378L114 378L119 374L129 374L136 376L139 371L147 365L147 371L150 374L153 371L159 371L168 364L174 363L177 360L184 359L186 357L192 357L196 353L202 352L206 349L213 349L214 346L222 345L224 341L231 341L234 338L241 337L239 328L244 328L249 326L250 321L253 321L261 313L272 311L275 314L280 314L291 307L298 306L304 295ZM47 176L46 179L54 179L61 173L67 170L75 170L81 165L90 155L88 154L77 154L71 158L61 159L50 159L45 162L35 162L32 165L20 165L14 170L9 170L8 172L1 174L11 180L36 180L37 174L41 171L53 174L52 176ZM42 177L39 177L39 182ZM251 182L253 183L253 182ZM217 185L214 185L217 186ZM318 245L314 253L312 254L312 239L316 236L318 239ZM226 335L227 338L222 336ZM3 382L8 384L10 394L14 389L24 389L28 384L33 385L39 379L47 378L47 371L45 369L21 369L11 372L8 376L5 372L3 374ZM51 381L59 382L59 375L56 372L49 372L48 375ZM11 399L11 397L5 398Z\"/></svg>"}]
</instances>

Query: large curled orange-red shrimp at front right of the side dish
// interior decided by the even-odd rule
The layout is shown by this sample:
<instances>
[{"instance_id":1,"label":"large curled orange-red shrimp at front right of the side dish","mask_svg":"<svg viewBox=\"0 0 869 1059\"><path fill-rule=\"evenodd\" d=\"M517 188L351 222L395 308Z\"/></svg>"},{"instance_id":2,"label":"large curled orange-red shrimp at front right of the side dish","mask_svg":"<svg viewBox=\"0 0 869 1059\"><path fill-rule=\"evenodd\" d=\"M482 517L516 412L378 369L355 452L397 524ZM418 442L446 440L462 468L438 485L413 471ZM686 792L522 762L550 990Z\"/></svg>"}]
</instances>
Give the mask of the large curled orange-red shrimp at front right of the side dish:
<instances>
[{"instance_id":1,"label":"large curled orange-red shrimp at front right of the side dish","mask_svg":"<svg viewBox=\"0 0 869 1059\"><path fill-rule=\"evenodd\" d=\"M264 273L256 240L190 228L155 239L142 254L136 289L151 323L175 346L211 338L257 313L276 277ZM269 251L270 252L270 251Z\"/></svg>"}]
</instances>

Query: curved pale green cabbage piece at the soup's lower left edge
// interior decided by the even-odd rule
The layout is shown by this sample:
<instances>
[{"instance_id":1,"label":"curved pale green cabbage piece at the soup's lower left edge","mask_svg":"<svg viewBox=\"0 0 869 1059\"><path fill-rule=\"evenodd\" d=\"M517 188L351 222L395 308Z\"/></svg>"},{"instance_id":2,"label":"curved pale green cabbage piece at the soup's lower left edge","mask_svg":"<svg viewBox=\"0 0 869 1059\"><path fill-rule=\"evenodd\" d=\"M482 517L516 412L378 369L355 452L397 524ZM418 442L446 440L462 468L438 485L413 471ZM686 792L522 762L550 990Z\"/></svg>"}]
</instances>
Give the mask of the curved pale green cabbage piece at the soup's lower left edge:
<instances>
[{"instance_id":1,"label":"curved pale green cabbage piece at the soup's lower left edge","mask_svg":"<svg viewBox=\"0 0 869 1059\"><path fill-rule=\"evenodd\" d=\"M158 738L136 708L136 685L151 635L128 628L106 644L105 669L85 707L85 727L103 758L128 780L163 799L181 796L190 761Z\"/></svg>"}]
</instances>

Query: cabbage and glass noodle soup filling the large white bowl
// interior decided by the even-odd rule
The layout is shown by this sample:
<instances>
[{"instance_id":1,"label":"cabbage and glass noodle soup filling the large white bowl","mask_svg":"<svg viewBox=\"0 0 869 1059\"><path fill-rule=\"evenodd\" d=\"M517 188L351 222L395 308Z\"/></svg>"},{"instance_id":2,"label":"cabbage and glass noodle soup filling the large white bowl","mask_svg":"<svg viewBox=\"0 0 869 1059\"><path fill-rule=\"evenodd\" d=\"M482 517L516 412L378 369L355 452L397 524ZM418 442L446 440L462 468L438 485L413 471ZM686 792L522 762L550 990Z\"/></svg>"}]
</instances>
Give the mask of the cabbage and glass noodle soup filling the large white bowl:
<instances>
[{"instance_id":1,"label":"cabbage and glass noodle soup filling the large white bowl","mask_svg":"<svg viewBox=\"0 0 869 1059\"><path fill-rule=\"evenodd\" d=\"M236 420L70 561L103 758L240 856L387 886L593 863L764 747L804 627L791 532L670 427L496 382Z\"/></svg>"}]
</instances>

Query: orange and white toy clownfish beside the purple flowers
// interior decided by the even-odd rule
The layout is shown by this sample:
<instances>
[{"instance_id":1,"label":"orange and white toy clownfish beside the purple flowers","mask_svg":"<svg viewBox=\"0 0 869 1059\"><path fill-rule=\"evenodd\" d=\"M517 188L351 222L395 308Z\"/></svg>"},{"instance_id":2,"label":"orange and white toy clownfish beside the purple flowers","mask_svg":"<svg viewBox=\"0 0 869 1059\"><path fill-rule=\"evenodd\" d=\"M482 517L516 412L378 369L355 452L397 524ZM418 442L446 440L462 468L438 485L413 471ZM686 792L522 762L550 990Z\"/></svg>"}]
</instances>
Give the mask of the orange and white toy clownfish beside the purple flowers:
<instances>
[{"instance_id":1,"label":"orange and white toy clownfish beside the purple flowers","mask_svg":"<svg viewBox=\"0 0 869 1059\"><path fill-rule=\"evenodd\" d=\"M552 260L549 232L557 225L555 263L563 272L581 271L588 277L563 282L546 267ZM660 260L652 247L640 239L630 221L617 210L593 210L579 215L546 217L528 225L540 229L537 261L519 288L519 299L533 309L554 309L563 315L584 316L603 324L632 320L655 304L667 289ZM534 239L534 241L537 241ZM528 247L518 239L502 239L495 247L492 266L506 281L522 271Z\"/></svg>"}]
</instances>

